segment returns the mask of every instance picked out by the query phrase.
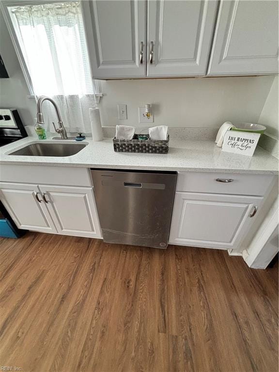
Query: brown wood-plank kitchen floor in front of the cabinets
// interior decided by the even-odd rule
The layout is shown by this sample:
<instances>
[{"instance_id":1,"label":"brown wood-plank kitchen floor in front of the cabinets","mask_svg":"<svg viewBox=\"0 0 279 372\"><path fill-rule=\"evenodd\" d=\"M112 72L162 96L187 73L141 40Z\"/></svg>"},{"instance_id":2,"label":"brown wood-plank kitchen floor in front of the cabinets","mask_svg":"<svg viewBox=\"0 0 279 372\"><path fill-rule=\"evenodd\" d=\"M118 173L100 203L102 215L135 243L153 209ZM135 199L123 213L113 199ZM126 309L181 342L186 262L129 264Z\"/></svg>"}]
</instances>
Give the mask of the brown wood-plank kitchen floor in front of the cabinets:
<instances>
[{"instance_id":1,"label":"brown wood-plank kitchen floor in front of the cabinets","mask_svg":"<svg viewBox=\"0 0 279 372\"><path fill-rule=\"evenodd\" d=\"M278 371L278 263L226 251L0 238L0 366Z\"/></svg>"}]
</instances>

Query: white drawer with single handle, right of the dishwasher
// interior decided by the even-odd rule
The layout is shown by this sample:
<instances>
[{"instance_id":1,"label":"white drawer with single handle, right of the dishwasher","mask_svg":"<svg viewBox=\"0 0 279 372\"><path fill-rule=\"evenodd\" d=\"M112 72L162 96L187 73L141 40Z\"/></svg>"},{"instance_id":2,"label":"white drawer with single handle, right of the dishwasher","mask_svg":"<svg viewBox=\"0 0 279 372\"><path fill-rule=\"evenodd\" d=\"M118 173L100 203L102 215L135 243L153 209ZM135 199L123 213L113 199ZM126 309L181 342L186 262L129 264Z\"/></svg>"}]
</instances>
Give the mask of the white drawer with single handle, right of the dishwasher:
<instances>
[{"instance_id":1,"label":"white drawer with single handle, right of the dishwasher","mask_svg":"<svg viewBox=\"0 0 279 372\"><path fill-rule=\"evenodd\" d=\"M179 172L176 191L263 196L273 179L272 174Z\"/></svg>"}]
</instances>

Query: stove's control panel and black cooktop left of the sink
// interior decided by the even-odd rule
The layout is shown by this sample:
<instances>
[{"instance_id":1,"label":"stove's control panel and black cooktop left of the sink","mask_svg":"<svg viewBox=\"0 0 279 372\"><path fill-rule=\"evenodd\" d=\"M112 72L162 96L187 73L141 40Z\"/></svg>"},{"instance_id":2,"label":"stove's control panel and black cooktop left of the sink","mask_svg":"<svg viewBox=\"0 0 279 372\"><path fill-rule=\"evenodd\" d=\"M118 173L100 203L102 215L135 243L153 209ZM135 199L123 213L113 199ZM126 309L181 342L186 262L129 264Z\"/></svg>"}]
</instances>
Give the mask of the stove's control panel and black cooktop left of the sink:
<instances>
[{"instance_id":1,"label":"stove's control panel and black cooktop left of the sink","mask_svg":"<svg viewBox=\"0 0 279 372\"><path fill-rule=\"evenodd\" d=\"M0 109L0 147L27 137L16 109Z\"/></svg>"}]
</instances>

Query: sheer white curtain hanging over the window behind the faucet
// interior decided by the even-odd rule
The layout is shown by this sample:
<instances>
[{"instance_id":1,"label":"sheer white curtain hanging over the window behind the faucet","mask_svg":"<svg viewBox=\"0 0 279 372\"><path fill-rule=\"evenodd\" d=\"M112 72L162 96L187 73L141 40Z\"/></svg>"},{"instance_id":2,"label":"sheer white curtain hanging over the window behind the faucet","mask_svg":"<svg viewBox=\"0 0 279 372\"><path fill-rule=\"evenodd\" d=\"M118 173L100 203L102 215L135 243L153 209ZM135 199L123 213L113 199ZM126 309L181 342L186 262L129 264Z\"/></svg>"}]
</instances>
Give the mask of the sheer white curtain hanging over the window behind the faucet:
<instances>
[{"instance_id":1,"label":"sheer white curtain hanging over the window behind the faucet","mask_svg":"<svg viewBox=\"0 0 279 372\"><path fill-rule=\"evenodd\" d=\"M36 97L52 97L69 132L90 133L89 108L95 107L80 1L10 8ZM43 103L47 130L55 111Z\"/></svg>"}]
</instances>

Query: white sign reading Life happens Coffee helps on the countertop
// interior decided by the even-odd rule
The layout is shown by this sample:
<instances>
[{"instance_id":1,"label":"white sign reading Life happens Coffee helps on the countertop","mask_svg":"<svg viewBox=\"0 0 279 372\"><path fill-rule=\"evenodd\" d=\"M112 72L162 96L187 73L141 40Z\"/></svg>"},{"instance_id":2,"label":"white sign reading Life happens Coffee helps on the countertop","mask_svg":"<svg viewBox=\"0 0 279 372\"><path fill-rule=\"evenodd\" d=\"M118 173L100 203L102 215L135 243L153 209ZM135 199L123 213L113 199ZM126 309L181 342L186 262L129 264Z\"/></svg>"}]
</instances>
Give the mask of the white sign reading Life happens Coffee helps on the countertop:
<instances>
[{"instance_id":1,"label":"white sign reading Life happens Coffee helps on the countertop","mask_svg":"<svg viewBox=\"0 0 279 372\"><path fill-rule=\"evenodd\" d=\"M238 132L228 130L225 134L222 151L234 154L253 156L260 139L258 133Z\"/></svg>"}]
</instances>

